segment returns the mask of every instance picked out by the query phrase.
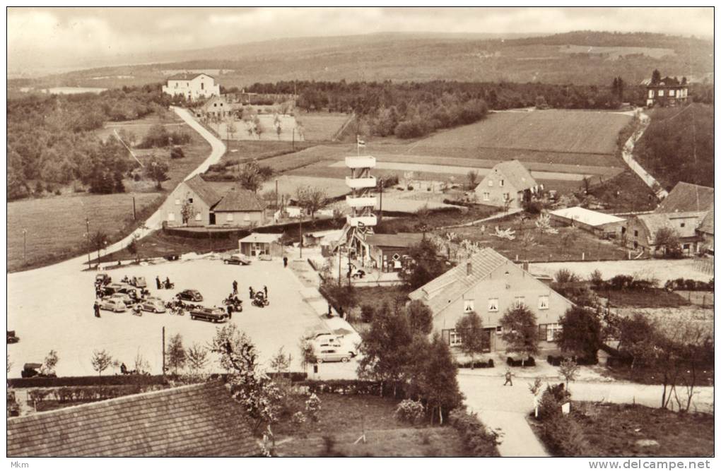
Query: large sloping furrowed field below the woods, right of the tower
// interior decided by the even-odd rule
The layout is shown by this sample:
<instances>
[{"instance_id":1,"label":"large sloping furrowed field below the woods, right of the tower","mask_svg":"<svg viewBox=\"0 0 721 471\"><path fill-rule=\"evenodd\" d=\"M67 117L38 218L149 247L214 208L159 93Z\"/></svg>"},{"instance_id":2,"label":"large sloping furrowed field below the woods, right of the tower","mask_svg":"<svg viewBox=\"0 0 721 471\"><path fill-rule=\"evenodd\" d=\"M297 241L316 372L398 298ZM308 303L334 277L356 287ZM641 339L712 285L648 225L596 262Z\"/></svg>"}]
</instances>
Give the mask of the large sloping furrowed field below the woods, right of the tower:
<instances>
[{"instance_id":1,"label":"large sloping furrowed field below the woods, right of the tower","mask_svg":"<svg viewBox=\"0 0 721 471\"><path fill-rule=\"evenodd\" d=\"M417 148L505 148L518 150L612 154L619 131L631 121L611 112L548 109L526 113L492 113L472 125L438 133Z\"/></svg>"}]
</instances>

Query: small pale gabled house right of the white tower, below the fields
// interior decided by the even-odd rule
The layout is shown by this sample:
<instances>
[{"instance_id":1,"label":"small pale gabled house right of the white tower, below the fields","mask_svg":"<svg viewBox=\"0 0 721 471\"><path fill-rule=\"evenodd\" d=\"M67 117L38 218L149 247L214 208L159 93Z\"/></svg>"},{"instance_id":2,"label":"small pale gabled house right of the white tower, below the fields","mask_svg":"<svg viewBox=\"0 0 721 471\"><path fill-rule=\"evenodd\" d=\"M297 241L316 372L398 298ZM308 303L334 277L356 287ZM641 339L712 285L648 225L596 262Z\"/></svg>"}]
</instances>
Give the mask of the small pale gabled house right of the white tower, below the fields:
<instances>
[{"instance_id":1,"label":"small pale gabled house right of the white tower, below the fields","mask_svg":"<svg viewBox=\"0 0 721 471\"><path fill-rule=\"evenodd\" d=\"M476 199L485 205L523 207L539 191L539 184L523 163L513 160L497 163L475 189Z\"/></svg>"}]
</instances>

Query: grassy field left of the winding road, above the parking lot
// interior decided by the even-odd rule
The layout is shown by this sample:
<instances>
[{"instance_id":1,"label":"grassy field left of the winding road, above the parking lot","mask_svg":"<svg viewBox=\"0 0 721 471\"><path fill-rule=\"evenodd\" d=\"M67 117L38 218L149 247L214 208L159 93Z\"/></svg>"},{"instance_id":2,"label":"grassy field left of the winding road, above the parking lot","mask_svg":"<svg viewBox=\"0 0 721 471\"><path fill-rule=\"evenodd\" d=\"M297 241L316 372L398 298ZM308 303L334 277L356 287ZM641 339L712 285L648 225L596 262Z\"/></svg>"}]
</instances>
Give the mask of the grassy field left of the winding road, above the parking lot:
<instances>
[{"instance_id":1,"label":"grassy field left of the winding road, above the parking lot","mask_svg":"<svg viewBox=\"0 0 721 471\"><path fill-rule=\"evenodd\" d=\"M138 125L149 127L148 120L140 121L143 123ZM191 127L182 124L180 130L191 135L190 143L182 146L185 158L170 160L167 149L134 151L143 163L149 161L153 153L167 158L169 179L163 182L161 191L155 188L154 182L125 179L123 183L127 193L71 193L8 203L8 271L50 264L86 251L86 217L90 220L90 232L102 229L109 236L110 242L119 241L141 225L159 207L167 193L205 160L211 151L211 146ZM139 133L138 138L142 138ZM137 220L133 220L133 197L136 199ZM23 229L27 230L25 262Z\"/></svg>"}]
</instances>

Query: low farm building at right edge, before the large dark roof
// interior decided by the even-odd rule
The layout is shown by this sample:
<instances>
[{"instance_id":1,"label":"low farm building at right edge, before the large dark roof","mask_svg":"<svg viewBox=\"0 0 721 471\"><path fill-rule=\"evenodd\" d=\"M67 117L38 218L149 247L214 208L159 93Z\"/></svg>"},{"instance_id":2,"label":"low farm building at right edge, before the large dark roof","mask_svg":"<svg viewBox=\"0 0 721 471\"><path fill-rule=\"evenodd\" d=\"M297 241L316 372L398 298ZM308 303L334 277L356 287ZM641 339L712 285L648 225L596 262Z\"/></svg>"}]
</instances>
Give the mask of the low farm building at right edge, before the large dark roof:
<instances>
[{"instance_id":1,"label":"low farm building at right edge, before the large dark roof","mask_svg":"<svg viewBox=\"0 0 721 471\"><path fill-rule=\"evenodd\" d=\"M696 254L702 238L696 233L705 211L665 212L635 215L627 220L622 228L622 241L625 246L641 249L655 254L658 249L656 235L662 228L672 229L681 243L681 251L686 255Z\"/></svg>"}]
</instances>

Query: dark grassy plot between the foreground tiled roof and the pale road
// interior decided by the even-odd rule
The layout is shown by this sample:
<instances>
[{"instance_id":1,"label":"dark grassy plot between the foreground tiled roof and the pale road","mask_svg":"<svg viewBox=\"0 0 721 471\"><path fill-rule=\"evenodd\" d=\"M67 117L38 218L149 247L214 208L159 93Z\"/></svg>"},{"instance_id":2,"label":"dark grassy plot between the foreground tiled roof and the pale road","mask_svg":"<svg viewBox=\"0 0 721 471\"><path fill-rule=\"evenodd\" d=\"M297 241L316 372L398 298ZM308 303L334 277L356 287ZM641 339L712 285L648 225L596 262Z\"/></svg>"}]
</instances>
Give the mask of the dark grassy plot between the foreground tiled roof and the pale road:
<instances>
[{"instance_id":1,"label":"dark grassy plot between the foreground tiled roof and the pale road","mask_svg":"<svg viewBox=\"0 0 721 471\"><path fill-rule=\"evenodd\" d=\"M334 441L333 453L373 457L465 456L463 442L450 426L409 426L394 418L399 401L371 395L320 394L319 421L300 430L290 423L273 426L281 457L315 457L328 453L324 436ZM304 398L302 398L304 399ZM366 443L354 444L366 433Z\"/></svg>"}]
</instances>

